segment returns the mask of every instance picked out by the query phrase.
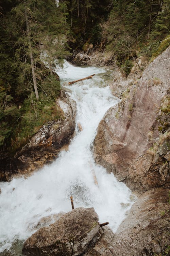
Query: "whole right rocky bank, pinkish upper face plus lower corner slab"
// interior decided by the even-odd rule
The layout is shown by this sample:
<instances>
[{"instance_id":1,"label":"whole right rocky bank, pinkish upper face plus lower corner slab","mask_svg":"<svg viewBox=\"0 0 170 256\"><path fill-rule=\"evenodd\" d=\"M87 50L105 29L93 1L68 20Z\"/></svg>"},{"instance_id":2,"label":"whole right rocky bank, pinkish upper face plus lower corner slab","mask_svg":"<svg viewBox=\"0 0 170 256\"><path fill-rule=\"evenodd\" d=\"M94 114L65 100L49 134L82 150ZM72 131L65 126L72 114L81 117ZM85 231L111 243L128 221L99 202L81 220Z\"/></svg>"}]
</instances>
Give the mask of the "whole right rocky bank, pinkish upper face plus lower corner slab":
<instances>
[{"instance_id":1,"label":"whole right rocky bank, pinkish upper face plus lower corner slab","mask_svg":"<svg viewBox=\"0 0 170 256\"><path fill-rule=\"evenodd\" d=\"M124 91L121 102L99 124L96 162L139 198L104 252L91 255L170 253L169 68L170 47Z\"/></svg>"}]
</instances>

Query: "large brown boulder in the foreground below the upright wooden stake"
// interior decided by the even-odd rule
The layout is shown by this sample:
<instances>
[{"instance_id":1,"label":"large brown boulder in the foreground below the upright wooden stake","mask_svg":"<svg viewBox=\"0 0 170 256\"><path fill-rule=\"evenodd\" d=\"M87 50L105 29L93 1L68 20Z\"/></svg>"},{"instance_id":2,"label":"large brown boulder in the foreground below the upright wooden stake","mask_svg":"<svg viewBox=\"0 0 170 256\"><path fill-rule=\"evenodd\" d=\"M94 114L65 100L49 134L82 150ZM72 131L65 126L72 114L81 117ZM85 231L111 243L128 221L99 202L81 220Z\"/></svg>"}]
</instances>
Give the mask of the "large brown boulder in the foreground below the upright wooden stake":
<instances>
[{"instance_id":1,"label":"large brown boulder in the foreground below the upright wooden stake","mask_svg":"<svg viewBox=\"0 0 170 256\"><path fill-rule=\"evenodd\" d=\"M99 231L94 208L77 208L48 227L40 228L23 245L29 256L71 256L84 252Z\"/></svg>"}]
</instances>

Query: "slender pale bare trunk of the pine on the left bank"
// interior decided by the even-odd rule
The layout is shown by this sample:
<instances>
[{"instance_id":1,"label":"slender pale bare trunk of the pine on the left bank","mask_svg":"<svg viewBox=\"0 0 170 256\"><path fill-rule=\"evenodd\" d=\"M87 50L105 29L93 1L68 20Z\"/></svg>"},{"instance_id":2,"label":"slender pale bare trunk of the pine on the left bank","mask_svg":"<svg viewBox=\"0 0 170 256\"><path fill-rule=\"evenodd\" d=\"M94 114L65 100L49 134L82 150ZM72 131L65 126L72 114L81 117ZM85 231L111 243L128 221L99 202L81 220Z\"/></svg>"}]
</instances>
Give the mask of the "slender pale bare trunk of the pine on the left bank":
<instances>
[{"instance_id":1,"label":"slender pale bare trunk of the pine on the left bank","mask_svg":"<svg viewBox=\"0 0 170 256\"><path fill-rule=\"evenodd\" d=\"M30 34L30 27L29 27L29 23L28 23L27 9L25 10L25 17L26 17L28 46L29 46L29 51L30 51L30 60L31 60L31 70L32 70L33 84L34 84L35 96L36 96L36 99L38 101L39 100L39 95L38 95L37 82L36 82L36 76L35 76L34 59L33 59L33 54L32 54L31 34Z\"/></svg>"}]
</instances>

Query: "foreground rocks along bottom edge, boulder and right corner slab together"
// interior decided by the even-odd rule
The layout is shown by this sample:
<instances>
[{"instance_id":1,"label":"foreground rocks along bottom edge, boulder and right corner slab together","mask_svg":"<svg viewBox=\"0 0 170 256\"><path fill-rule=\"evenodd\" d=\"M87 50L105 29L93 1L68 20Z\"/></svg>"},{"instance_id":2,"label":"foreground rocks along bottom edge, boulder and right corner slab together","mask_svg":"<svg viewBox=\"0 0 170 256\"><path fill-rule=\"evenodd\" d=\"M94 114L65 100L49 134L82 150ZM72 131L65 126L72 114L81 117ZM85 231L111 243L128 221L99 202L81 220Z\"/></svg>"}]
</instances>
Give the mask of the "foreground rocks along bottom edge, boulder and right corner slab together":
<instances>
[{"instance_id":1,"label":"foreground rocks along bottom edge, boulder and right corner slab together","mask_svg":"<svg viewBox=\"0 0 170 256\"><path fill-rule=\"evenodd\" d=\"M167 201L168 189L145 192L115 234L108 226L99 225L94 208L77 208L66 214L43 218L36 226L41 228L24 243L22 254L150 256L164 252L163 255L168 255L170 219Z\"/></svg>"}]
</instances>

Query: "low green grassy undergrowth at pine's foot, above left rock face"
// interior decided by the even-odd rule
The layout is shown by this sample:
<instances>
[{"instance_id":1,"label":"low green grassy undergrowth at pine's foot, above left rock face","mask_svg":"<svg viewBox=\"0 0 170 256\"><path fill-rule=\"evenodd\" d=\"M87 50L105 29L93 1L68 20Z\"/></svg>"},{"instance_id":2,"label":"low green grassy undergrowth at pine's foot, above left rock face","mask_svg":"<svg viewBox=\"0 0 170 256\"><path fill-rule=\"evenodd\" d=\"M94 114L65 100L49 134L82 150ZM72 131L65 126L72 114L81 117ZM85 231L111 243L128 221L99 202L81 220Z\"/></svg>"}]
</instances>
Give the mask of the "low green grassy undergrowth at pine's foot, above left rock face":
<instances>
[{"instance_id":1,"label":"low green grassy undergrowth at pine's foot, above left rock face","mask_svg":"<svg viewBox=\"0 0 170 256\"><path fill-rule=\"evenodd\" d=\"M47 100L44 95L40 96L41 100L38 102L33 93L24 100L20 109L20 117L12 133L12 152L25 145L48 121L64 118L62 109L55 102Z\"/></svg>"}]
</instances>

